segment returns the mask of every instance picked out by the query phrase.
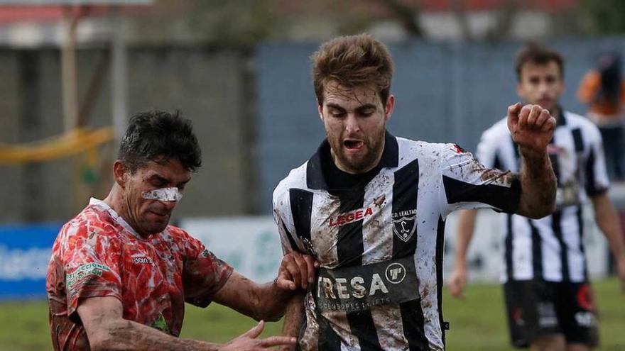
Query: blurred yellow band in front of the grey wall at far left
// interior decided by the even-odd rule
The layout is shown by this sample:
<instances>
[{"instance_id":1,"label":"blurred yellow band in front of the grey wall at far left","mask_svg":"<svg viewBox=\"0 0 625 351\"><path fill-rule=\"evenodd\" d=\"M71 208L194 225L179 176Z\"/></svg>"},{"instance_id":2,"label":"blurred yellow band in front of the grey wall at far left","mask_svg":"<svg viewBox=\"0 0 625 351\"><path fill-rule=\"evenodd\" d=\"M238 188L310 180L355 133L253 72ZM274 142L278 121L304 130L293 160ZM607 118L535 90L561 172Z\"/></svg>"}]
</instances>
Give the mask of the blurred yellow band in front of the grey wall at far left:
<instances>
[{"instance_id":1,"label":"blurred yellow band in front of the grey wall at far left","mask_svg":"<svg viewBox=\"0 0 625 351\"><path fill-rule=\"evenodd\" d=\"M0 165L41 162L87 152L114 138L111 127L89 130L76 128L63 135L21 145L0 144Z\"/></svg>"}]
</instances>

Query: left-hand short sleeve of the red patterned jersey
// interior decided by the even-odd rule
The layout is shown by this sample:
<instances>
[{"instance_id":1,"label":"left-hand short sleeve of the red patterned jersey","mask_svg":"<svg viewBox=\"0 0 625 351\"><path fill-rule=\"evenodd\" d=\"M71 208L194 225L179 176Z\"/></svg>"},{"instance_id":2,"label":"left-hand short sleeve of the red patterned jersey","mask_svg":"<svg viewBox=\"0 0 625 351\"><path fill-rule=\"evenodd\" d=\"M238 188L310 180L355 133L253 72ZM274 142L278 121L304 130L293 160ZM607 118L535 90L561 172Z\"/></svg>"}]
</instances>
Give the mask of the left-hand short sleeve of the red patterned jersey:
<instances>
[{"instance_id":1,"label":"left-hand short sleeve of the red patterned jersey","mask_svg":"<svg viewBox=\"0 0 625 351\"><path fill-rule=\"evenodd\" d=\"M80 299L114 296L121 301L121 248L115 228L70 222L60 235L65 238L60 261L65 272L67 315L75 313Z\"/></svg>"}]
</instances>

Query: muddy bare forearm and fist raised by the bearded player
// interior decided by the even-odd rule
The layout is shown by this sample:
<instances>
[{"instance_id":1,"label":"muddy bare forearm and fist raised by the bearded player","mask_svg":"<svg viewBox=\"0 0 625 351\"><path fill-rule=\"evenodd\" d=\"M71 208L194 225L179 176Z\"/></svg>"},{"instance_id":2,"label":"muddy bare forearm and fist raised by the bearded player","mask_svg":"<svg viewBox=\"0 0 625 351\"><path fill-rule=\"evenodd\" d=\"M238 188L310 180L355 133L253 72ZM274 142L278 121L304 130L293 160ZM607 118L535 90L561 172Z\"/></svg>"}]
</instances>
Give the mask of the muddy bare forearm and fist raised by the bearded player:
<instances>
[{"instance_id":1,"label":"muddy bare forearm and fist raised by the bearded player","mask_svg":"<svg viewBox=\"0 0 625 351\"><path fill-rule=\"evenodd\" d=\"M508 129L521 154L521 201L517 214L542 218L555 211L556 179L547 153L555 118L538 105L508 107Z\"/></svg>"}]
</instances>

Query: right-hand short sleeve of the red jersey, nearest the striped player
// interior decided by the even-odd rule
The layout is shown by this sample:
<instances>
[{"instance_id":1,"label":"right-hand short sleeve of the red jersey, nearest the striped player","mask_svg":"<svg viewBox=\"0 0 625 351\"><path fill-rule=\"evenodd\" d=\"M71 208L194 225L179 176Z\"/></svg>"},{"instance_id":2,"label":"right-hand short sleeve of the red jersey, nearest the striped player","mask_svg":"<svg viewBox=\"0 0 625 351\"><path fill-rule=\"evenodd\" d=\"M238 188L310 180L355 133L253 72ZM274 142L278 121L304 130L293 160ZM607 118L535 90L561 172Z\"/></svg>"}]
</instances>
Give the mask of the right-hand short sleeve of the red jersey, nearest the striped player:
<instances>
[{"instance_id":1,"label":"right-hand short sleeve of the red jersey, nearest the striped player","mask_svg":"<svg viewBox=\"0 0 625 351\"><path fill-rule=\"evenodd\" d=\"M173 229L172 229L173 230ZM185 252L183 267L183 286L185 301L199 307L206 307L211 297L226 284L234 271L232 266L219 260L200 240L193 238L181 229Z\"/></svg>"}]
</instances>

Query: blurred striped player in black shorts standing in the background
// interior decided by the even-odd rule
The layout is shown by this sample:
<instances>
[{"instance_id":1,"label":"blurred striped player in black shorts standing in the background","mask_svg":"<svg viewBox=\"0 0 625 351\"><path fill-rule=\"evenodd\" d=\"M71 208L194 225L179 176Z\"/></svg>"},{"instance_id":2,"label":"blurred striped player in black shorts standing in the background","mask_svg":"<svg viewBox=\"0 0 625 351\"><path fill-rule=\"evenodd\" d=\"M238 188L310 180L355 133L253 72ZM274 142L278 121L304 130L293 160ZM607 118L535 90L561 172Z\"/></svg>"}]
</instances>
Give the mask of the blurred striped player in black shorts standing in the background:
<instances>
[{"instance_id":1,"label":"blurred striped player in black shorts standing in the background","mask_svg":"<svg viewBox=\"0 0 625 351\"><path fill-rule=\"evenodd\" d=\"M619 218L607 196L601 135L592 122L560 106L563 72L560 54L536 44L527 45L516 59L518 96L547 108L558 121L547 147L558 179L557 211L539 220L508 215L502 228L501 280L511 342L532 350L582 351L597 343L582 242L582 204L588 198L612 247L625 289L625 248ZM487 167L516 171L517 144L506 121L499 121L482 134L477 159ZM466 252L476 215L477 210L460 213L455 269L450 277L454 296L462 295L467 280Z\"/></svg>"}]
</instances>

